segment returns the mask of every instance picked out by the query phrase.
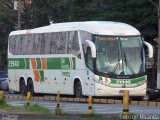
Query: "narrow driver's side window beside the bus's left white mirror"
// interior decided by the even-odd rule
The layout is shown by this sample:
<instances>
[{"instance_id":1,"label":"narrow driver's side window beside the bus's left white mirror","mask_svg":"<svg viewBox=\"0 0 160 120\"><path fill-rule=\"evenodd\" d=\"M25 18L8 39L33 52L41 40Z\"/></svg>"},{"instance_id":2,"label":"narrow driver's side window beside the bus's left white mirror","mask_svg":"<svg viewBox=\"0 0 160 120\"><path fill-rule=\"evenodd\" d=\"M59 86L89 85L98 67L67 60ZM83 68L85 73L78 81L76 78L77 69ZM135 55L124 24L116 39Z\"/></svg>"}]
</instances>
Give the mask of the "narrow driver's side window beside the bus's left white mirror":
<instances>
[{"instance_id":1,"label":"narrow driver's side window beside the bus's left white mirror","mask_svg":"<svg viewBox=\"0 0 160 120\"><path fill-rule=\"evenodd\" d=\"M93 71L93 59L92 59L91 48L90 47L87 47L86 65L91 71Z\"/></svg>"}]
</instances>

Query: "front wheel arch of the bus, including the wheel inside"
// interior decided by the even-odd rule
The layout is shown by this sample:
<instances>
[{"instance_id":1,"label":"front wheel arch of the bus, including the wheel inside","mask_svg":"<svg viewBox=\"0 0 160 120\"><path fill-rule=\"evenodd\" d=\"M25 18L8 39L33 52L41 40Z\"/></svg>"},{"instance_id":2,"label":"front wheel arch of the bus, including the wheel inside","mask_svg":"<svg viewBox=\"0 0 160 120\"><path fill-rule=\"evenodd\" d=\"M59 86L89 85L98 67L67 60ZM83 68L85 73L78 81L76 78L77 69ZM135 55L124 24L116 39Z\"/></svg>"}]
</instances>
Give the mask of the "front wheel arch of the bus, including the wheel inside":
<instances>
[{"instance_id":1,"label":"front wheel arch of the bus, including the wheel inside","mask_svg":"<svg viewBox=\"0 0 160 120\"><path fill-rule=\"evenodd\" d=\"M83 93L82 93L82 84L81 81L76 78L74 80L74 95L76 98L82 98L83 97Z\"/></svg>"}]
</instances>

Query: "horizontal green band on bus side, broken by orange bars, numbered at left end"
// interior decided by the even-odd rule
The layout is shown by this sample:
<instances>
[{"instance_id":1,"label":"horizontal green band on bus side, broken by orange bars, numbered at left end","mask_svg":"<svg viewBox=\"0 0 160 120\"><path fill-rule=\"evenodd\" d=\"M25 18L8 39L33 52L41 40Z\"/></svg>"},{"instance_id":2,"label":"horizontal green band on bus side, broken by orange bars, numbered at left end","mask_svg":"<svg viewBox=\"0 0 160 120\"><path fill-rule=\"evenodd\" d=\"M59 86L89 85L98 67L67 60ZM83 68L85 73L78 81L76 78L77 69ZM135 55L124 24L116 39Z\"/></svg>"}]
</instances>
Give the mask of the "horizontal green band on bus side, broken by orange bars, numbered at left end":
<instances>
[{"instance_id":1,"label":"horizontal green band on bus side, broken by orange bars, numbered at left end","mask_svg":"<svg viewBox=\"0 0 160 120\"><path fill-rule=\"evenodd\" d=\"M70 70L76 69L75 57L59 57L59 58L46 58L47 68L46 69L63 69ZM42 63L40 58L36 58L37 69L42 69ZM29 69L30 58L9 58L8 69Z\"/></svg>"}]
</instances>

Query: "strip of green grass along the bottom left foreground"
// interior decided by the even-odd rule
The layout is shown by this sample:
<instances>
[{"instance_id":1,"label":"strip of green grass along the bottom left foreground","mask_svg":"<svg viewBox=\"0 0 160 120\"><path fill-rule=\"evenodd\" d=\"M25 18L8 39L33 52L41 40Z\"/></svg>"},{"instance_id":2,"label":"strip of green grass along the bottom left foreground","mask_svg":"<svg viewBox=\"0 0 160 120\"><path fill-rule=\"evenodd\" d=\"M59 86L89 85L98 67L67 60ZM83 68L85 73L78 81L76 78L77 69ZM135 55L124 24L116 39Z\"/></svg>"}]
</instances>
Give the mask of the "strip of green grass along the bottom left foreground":
<instances>
[{"instance_id":1,"label":"strip of green grass along the bottom left foreground","mask_svg":"<svg viewBox=\"0 0 160 120\"><path fill-rule=\"evenodd\" d=\"M47 115L58 115L66 119L70 119L71 117L75 117L77 120L120 120L118 116L104 116L98 115L93 112L92 115L84 114L84 115L71 115L64 113L60 109L49 110L39 104L30 104L23 106L12 106L7 104L5 101L0 100L0 111L4 112L14 112L14 113L24 113L24 114L47 114Z\"/></svg>"}]
</instances>

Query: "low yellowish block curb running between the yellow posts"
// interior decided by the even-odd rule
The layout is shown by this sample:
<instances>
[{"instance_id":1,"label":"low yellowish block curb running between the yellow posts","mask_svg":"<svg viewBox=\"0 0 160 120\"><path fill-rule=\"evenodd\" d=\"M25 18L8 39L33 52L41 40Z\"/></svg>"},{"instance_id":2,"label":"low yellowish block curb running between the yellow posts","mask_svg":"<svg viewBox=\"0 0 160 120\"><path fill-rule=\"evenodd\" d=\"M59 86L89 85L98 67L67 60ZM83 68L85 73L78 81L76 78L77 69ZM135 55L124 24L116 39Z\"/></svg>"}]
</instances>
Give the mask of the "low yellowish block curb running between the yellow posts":
<instances>
[{"instance_id":1,"label":"low yellowish block curb running between the yellow posts","mask_svg":"<svg viewBox=\"0 0 160 120\"><path fill-rule=\"evenodd\" d=\"M5 100L26 100L26 96L6 96ZM31 100L44 100L44 101L56 101L55 96L44 96L44 97L31 97ZM71 97L60 97L60 101L64 102L81 102L88 103L88 98L71 98ZM103 104L123 104L123 100L114 99L97 99L93 98L93 103L103 103ZM130 101L129 105L142 105L142 106L160 106L160 102L152 101Z\"/></svg>"}]
</instances>

